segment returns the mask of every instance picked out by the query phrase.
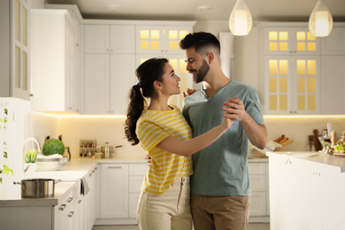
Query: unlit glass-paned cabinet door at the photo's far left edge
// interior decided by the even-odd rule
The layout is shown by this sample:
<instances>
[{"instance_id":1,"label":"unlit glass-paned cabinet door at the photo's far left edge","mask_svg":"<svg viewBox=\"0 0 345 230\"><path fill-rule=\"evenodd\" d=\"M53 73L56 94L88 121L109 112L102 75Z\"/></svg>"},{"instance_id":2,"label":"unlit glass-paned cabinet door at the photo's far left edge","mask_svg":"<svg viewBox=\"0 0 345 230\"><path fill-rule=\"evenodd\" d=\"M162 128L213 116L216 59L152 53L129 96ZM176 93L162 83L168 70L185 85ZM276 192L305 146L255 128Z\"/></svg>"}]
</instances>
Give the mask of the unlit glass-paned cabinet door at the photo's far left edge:
<instances>
[{"instance_id":1,"label":"unlit glass-paned cabinet door at the photo's far left edge","mask_svg":"<svg viewBox=\"0 0 345 230\"><path fill-rule=\"evenodd\" d=\"M12 1L12 96L29 100L30 0Z\"/></svg>"}]
</instances>

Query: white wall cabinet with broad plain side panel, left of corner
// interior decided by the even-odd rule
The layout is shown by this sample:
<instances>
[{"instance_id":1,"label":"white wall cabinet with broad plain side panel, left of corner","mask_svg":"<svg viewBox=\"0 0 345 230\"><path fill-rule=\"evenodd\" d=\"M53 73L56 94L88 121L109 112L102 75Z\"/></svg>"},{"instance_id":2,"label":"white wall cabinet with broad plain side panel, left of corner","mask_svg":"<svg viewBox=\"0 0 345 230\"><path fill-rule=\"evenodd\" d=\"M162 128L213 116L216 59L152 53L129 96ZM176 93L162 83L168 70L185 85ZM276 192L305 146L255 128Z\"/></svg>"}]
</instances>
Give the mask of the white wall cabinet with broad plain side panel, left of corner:
<instances>
[{"instance_id":1,"label":"white wall cabinet with broad plain side panel, left of corner","mask_svg":"<svg viewBox=\"0 0 345 230\"><path fill-rule=\"evenodd\" d=\"M33 110L80 112L80 48L67 10L33 10Z\"/></svg>"}]
</instances>

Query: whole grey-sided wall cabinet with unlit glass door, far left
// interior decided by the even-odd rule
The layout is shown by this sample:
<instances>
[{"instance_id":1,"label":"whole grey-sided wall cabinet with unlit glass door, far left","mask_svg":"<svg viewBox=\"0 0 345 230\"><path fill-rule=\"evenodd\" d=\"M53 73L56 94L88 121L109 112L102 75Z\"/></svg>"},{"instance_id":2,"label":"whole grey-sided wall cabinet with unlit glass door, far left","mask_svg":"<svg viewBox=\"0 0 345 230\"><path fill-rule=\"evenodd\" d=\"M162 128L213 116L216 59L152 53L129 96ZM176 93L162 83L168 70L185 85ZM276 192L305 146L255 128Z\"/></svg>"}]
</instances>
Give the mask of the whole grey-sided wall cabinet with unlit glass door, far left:
<instances>
[{"instance_id":1,"label":"whole grey-sided wall cabinet with unlit glass door, far left","mask_svg":"<svg viewBox=\"0 0 345 230\"><path fill-rule=\"evenodd\" d=\"M0 96L30 100L30 4L30 0L0 3Z\"/></svg>"}]
</instances>

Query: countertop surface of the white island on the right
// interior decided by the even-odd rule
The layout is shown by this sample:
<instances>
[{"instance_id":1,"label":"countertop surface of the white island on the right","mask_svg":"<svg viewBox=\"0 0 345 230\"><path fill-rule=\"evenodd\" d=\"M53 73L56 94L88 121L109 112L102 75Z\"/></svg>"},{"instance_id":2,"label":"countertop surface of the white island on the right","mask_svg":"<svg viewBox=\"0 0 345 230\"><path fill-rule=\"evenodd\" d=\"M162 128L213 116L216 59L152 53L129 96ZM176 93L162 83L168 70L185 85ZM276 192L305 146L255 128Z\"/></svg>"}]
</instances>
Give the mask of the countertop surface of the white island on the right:
<instances>
[{"instance_id":1,"label":"countertop surface of the white island on the right","mask_svg":"<svg viewBox=\"0 0 345 230\"><path fill-rule=\"evenodd\" d=\"M296 157L303 160L315 162L318 164L330 165L338 167L341 173L345 173L345 157L327 155L322 152L267 152L267 156L286 156L286 157Z\"/></svg>"}]
</instances>

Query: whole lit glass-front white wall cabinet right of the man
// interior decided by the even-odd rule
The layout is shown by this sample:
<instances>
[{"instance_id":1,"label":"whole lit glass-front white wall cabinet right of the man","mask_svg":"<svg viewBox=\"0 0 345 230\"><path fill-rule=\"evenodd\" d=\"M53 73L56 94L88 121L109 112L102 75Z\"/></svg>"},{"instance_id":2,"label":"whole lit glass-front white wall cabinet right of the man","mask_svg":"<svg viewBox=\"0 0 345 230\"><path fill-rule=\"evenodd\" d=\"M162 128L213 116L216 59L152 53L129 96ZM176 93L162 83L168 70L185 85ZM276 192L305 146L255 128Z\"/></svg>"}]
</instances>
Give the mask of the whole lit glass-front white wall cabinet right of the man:
<instances>
[{"instance_id":1,"label":"whole lit glass-front white wall cabinet right of the man","mask_svg":"<svg viewBox=\"0 0 345 230\"><path fill-rule=\"evenodd\" d=\"M319 114L320 40L307 24L263 25L259 91L265 95L265 114Z\"/></svg>"}]
</instances>

